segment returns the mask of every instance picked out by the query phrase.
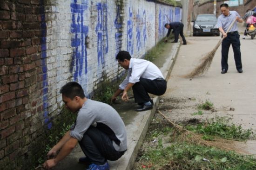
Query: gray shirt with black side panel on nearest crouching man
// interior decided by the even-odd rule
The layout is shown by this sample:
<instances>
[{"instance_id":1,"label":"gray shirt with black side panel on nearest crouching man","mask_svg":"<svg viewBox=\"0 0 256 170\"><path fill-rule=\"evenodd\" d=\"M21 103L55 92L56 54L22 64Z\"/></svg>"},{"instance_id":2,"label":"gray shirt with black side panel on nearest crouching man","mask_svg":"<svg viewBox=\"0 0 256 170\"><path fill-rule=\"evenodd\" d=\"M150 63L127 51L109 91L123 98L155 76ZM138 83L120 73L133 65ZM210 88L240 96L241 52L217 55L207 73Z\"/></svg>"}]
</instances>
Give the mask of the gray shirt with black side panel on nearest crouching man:
<instances>
[{"instance_id":1,"label":"gray shirt with black side panel on nearest crouching man","mask_svg":"<svg viewBox=\"0 0 256 170\"><path fill-rule=\"evenodd\" d=\"M105 132L112 139L116 151L127 149L125 125L113 107L87 99L78 112L74 126L71 127L71 137L80 141L90 126Z\"/></svg>"}]
</instances>

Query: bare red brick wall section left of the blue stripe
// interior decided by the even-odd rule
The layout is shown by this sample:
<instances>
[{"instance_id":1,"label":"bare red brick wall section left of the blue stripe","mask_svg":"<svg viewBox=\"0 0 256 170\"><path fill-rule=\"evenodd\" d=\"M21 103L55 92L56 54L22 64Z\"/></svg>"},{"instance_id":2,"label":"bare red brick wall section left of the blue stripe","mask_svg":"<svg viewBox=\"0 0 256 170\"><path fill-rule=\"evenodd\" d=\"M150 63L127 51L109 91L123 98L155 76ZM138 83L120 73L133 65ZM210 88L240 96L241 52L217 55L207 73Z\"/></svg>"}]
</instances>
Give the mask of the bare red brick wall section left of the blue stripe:
<instances>
[{"instance_id":1,"label":"bare red brick wall section left of the blue stripe","mask_svg":"<svg viewBox=\"0 0 256 170\"><path fill-rule=\"evenodd\" d=\"M0 169L26 169L44 147L31 145L43 132L40 22L40 0L0 1Z\"/></svg>"}]
</instances>

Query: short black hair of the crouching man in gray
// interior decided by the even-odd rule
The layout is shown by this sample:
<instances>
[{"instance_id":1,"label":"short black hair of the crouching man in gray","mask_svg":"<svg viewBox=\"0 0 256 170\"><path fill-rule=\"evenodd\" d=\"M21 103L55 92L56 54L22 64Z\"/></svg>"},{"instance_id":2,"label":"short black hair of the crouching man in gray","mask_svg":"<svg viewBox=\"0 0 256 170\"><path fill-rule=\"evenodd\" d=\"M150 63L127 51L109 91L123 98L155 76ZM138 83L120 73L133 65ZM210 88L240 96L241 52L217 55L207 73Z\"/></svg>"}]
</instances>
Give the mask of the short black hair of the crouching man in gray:
<instances>
[{"instance_id":1,"label":"short black hair of the crouching man in gray","mask_svg":"<svg viewBox=\"0 0 256 170\"><path fill-rule=\"evenodd\" d=\"M77 82L68 82L61 88L60 93L71 100L73 100L75 96L79 96L82 99L85 98L83 88Z\"/></svg>"}]
</instances>

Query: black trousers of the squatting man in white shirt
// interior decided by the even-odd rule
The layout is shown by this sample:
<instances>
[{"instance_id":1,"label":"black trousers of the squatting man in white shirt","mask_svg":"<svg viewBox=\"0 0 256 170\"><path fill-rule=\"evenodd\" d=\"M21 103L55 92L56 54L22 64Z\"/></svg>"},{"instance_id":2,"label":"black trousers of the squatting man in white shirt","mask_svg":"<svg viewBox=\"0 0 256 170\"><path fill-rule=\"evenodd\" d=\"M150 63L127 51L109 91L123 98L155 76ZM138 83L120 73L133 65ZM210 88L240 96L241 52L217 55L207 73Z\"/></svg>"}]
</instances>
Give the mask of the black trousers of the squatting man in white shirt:
<instances>
[{"instance_id":1,"label":"black trousers of the squatting man in white shirt","mask_svg":"<svg viewBox=\"0 0 256 170\"><path fill-rule=\"evenodd\" d=\"M146 78L140 78L140 82L136 82L133 85L133 94L135 102L142 104L151 101L148 93L155 95L162 95L166 91L167 82L164 79L150 80Z\"/></svg>"}]
</instances>

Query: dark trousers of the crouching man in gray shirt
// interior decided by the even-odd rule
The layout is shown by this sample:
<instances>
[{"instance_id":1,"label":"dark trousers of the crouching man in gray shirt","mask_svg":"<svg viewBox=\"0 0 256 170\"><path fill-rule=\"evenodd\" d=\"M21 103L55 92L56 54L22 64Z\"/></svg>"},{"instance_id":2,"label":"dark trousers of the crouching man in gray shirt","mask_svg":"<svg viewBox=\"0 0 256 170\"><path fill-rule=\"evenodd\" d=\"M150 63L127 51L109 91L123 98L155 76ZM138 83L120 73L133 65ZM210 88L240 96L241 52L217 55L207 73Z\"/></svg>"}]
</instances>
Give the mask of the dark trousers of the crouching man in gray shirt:
<instances>
[{"instance_id":1,"label":"dark trousers of the crouching man in gray shirt","mask_svg":"<svg viewBox=\"0 0 256 170\"><path fill-rule=\"evenodd\" d=\"M116 151L108 135L94 126L90 126L84 133L79 145L93 164L105 164L107 160L115 161L125 152Z\"/></svg>"}]
</instances>

